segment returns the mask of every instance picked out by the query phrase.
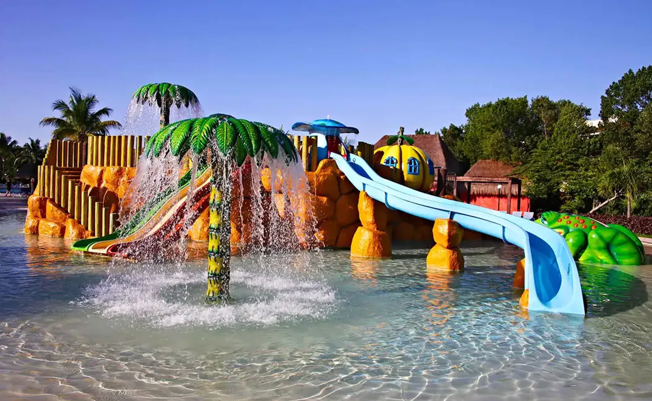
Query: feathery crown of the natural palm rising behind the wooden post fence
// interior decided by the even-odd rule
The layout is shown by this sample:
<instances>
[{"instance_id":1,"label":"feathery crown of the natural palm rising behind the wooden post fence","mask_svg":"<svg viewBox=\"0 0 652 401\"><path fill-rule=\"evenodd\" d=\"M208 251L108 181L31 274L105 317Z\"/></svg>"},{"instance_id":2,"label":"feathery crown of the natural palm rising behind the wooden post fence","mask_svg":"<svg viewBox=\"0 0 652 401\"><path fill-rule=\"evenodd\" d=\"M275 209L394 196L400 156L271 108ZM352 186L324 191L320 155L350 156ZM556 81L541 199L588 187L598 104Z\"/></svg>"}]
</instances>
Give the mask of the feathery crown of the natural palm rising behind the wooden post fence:
<instances>
[{"instance_id":1,"label":"feathery crown of the natural palm rising behind the wooden post fence","mask_svg":"<svg viewBox=\"0 0 652 401\"><path fill-rule=\"evenodd\" d=\"M94 94L83 96L79 90L70 88L68 103L59 99L52 104L53 111L59 111L61 117L46 117L40 121L41 126L52 126L53 139L70 139L86 142L89 135L108 135L111 128L122 125L115 120L102 121L113 112L110 107L95 111L98 104Z\"/></svg>"}]
</instances>

